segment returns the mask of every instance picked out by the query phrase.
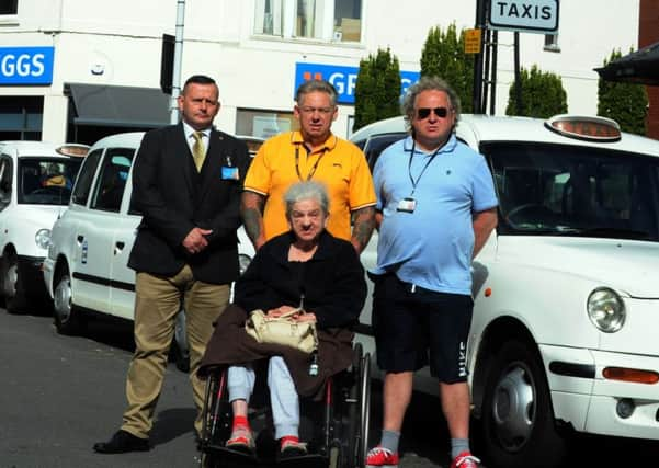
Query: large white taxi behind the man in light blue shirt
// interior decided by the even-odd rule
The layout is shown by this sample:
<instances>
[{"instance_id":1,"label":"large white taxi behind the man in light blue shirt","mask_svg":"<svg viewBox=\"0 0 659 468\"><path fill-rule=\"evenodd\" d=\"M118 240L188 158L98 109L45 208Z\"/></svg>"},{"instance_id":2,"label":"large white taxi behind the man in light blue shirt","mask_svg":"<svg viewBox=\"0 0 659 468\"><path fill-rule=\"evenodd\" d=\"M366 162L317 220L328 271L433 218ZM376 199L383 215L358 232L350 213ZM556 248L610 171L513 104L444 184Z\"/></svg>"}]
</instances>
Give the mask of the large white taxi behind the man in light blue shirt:
<instances>
[{"instance_id":1,"label":"large white taxi behind the man in light blue shirt","mask_svg":"<svg viewBox=\"0 0 659 468\"><path fill-rule=\"evenodd\" d=\"M405 130L397 117L351 139L373 167ZM573 431L659 440L659 141L571 115L463 115L456 136L500 202L473 263L467 352L486 465L560 466ZM428 373L416 385L436 393Z\"/></svg>"}]
</instances>

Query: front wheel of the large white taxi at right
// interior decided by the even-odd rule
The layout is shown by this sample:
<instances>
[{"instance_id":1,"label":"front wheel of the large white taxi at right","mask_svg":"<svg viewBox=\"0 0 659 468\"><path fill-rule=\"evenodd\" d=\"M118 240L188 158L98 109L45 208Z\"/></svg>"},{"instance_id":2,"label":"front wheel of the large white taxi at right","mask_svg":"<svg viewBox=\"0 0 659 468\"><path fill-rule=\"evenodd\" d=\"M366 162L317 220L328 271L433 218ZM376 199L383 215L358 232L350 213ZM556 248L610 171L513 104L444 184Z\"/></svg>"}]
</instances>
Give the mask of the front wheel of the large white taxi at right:
<instances>
[{"instance_id":1,"label":"front wheel of the large white taxi at right","mask_svg":"<svg viewBox=\"0 0 659 468\"><path fill-rule=\"evenodd\" d=\"M497 352L482 402L486 463L495 467L557 467L566 440L558 432L537 351L521 341Z\"/></svg>"}]
</instances>

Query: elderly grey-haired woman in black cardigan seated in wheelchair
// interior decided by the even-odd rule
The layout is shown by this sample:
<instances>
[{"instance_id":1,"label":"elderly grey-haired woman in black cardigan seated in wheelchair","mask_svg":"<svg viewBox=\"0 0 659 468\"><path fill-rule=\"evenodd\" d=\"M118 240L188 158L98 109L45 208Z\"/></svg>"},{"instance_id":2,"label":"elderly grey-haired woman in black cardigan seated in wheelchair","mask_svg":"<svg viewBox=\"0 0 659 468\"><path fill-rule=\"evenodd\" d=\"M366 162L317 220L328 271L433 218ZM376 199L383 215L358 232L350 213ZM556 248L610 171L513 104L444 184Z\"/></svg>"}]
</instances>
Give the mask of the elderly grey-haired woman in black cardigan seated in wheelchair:
<instances>
[{"instance_id":1,"label":"elderly grey-haired woman in black cardigan seated in wheelchair","mask_svg":"<svg viewBox=\"0 0 659 468\"><path fill-rule=\"evenodd\" d=\"M277 458L304 456L299 440L299 397L322 399L328 378L353 365L351 328L366 297L364 271L348 241L326 229L329 198L323 185L308 181L293 185L284 196L291 230L268 241L238 279L234 304L215 326L200 374L225 366L231 450L254 453L248 407L255 381L254 363L268 359L268 386L279 441ZM266 317L295 311L294 320L314 321L317 351L307 354L281 344L259 343L245 329L249 311ZM302 309L302 311L299 311Z\"/></svg>"}]
</instances>

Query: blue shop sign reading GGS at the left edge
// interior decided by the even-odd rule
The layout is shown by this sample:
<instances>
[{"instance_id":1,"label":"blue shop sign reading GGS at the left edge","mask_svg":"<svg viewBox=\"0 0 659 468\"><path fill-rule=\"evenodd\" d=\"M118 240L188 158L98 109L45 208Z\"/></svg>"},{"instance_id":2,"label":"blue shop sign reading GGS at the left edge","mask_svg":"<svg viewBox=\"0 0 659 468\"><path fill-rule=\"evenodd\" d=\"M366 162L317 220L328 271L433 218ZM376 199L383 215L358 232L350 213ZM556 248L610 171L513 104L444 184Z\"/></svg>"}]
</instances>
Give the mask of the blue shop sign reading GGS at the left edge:
<instances>
[{"instance_id":1,"label":"blue shop sign reading GGS at the left edge","mask_svg":"<svg viewBox=\"0 0 659 468\"><path fill-rule=\"evenodd\" d=\"M0 84L50 84L55 47L0 47Z\"/></svg>"}]
</instances>

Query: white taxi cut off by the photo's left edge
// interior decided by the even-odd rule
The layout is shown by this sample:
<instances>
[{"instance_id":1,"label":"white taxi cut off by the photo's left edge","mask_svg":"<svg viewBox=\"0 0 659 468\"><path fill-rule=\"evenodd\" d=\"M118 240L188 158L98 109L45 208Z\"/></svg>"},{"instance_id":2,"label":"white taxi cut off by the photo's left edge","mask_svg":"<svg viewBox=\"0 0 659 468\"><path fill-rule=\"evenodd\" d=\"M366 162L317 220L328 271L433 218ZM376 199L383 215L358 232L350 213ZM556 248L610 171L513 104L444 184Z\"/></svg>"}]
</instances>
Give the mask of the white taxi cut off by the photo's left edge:
<instances>
[{"instance_id":1,"label":"white taxi cut off by the photo's left edge","mask_svg":"<svg viewBox=\"0 0 659 468\"><path fill-rule=\"evenodd\" d=\"M48 233L69 204L88 148L0 141L0 295L10 312L47 298L42 263Z\"/></svg>"}]
</instances>

